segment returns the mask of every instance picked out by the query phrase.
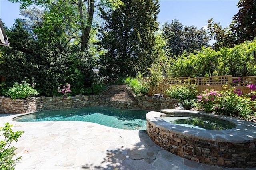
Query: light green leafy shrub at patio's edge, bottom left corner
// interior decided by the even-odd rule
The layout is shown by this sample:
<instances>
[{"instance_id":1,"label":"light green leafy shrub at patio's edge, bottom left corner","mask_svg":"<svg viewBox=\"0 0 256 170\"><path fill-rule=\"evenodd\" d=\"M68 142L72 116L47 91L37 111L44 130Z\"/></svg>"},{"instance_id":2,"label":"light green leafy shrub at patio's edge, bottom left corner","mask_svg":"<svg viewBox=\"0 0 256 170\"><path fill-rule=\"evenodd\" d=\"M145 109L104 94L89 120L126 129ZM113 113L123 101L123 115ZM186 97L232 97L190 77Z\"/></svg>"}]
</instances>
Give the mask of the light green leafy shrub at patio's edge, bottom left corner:
<instances>
[{"instance_id":1,"label":"light green leafy shrub at patio's edge, bottom left corner","mask_svg":"<svg viewBox=\"0 0 256 170\"><path fill-rule=\"evenodd\" d=\"M12 125L8 122L4 124L5 126L0 128L3 131L2 136L4 140L0 142L0 169L1 170L14 170L16 162L18 162L21 157L13 160L13 157L17 154L14 146L10 147L13 141L18 141L18 138L22 136L23 131L12 131Z\"/></svg>"}]
</instances>

